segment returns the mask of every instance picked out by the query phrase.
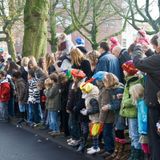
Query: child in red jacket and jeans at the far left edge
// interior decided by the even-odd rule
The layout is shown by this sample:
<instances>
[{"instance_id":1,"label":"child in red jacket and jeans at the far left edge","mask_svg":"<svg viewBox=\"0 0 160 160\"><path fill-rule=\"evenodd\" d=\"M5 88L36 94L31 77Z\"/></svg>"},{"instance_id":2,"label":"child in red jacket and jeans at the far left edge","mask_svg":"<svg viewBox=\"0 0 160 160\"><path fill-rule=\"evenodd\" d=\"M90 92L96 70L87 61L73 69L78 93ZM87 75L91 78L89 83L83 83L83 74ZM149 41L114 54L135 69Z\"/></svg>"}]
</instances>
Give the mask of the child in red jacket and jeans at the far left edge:
<instances>
[{"instance_id":1,"label":"child in red jacket and jeans at the far left edge","mask_svg":"<svg viewBox=\"0 0 160 160\"><path fill-rule=\"evenodd\" d=\"M8 121L8 102L10 99L10 84L6 73L0 71L0 120Z\"/></svg>"}]
</instances>

